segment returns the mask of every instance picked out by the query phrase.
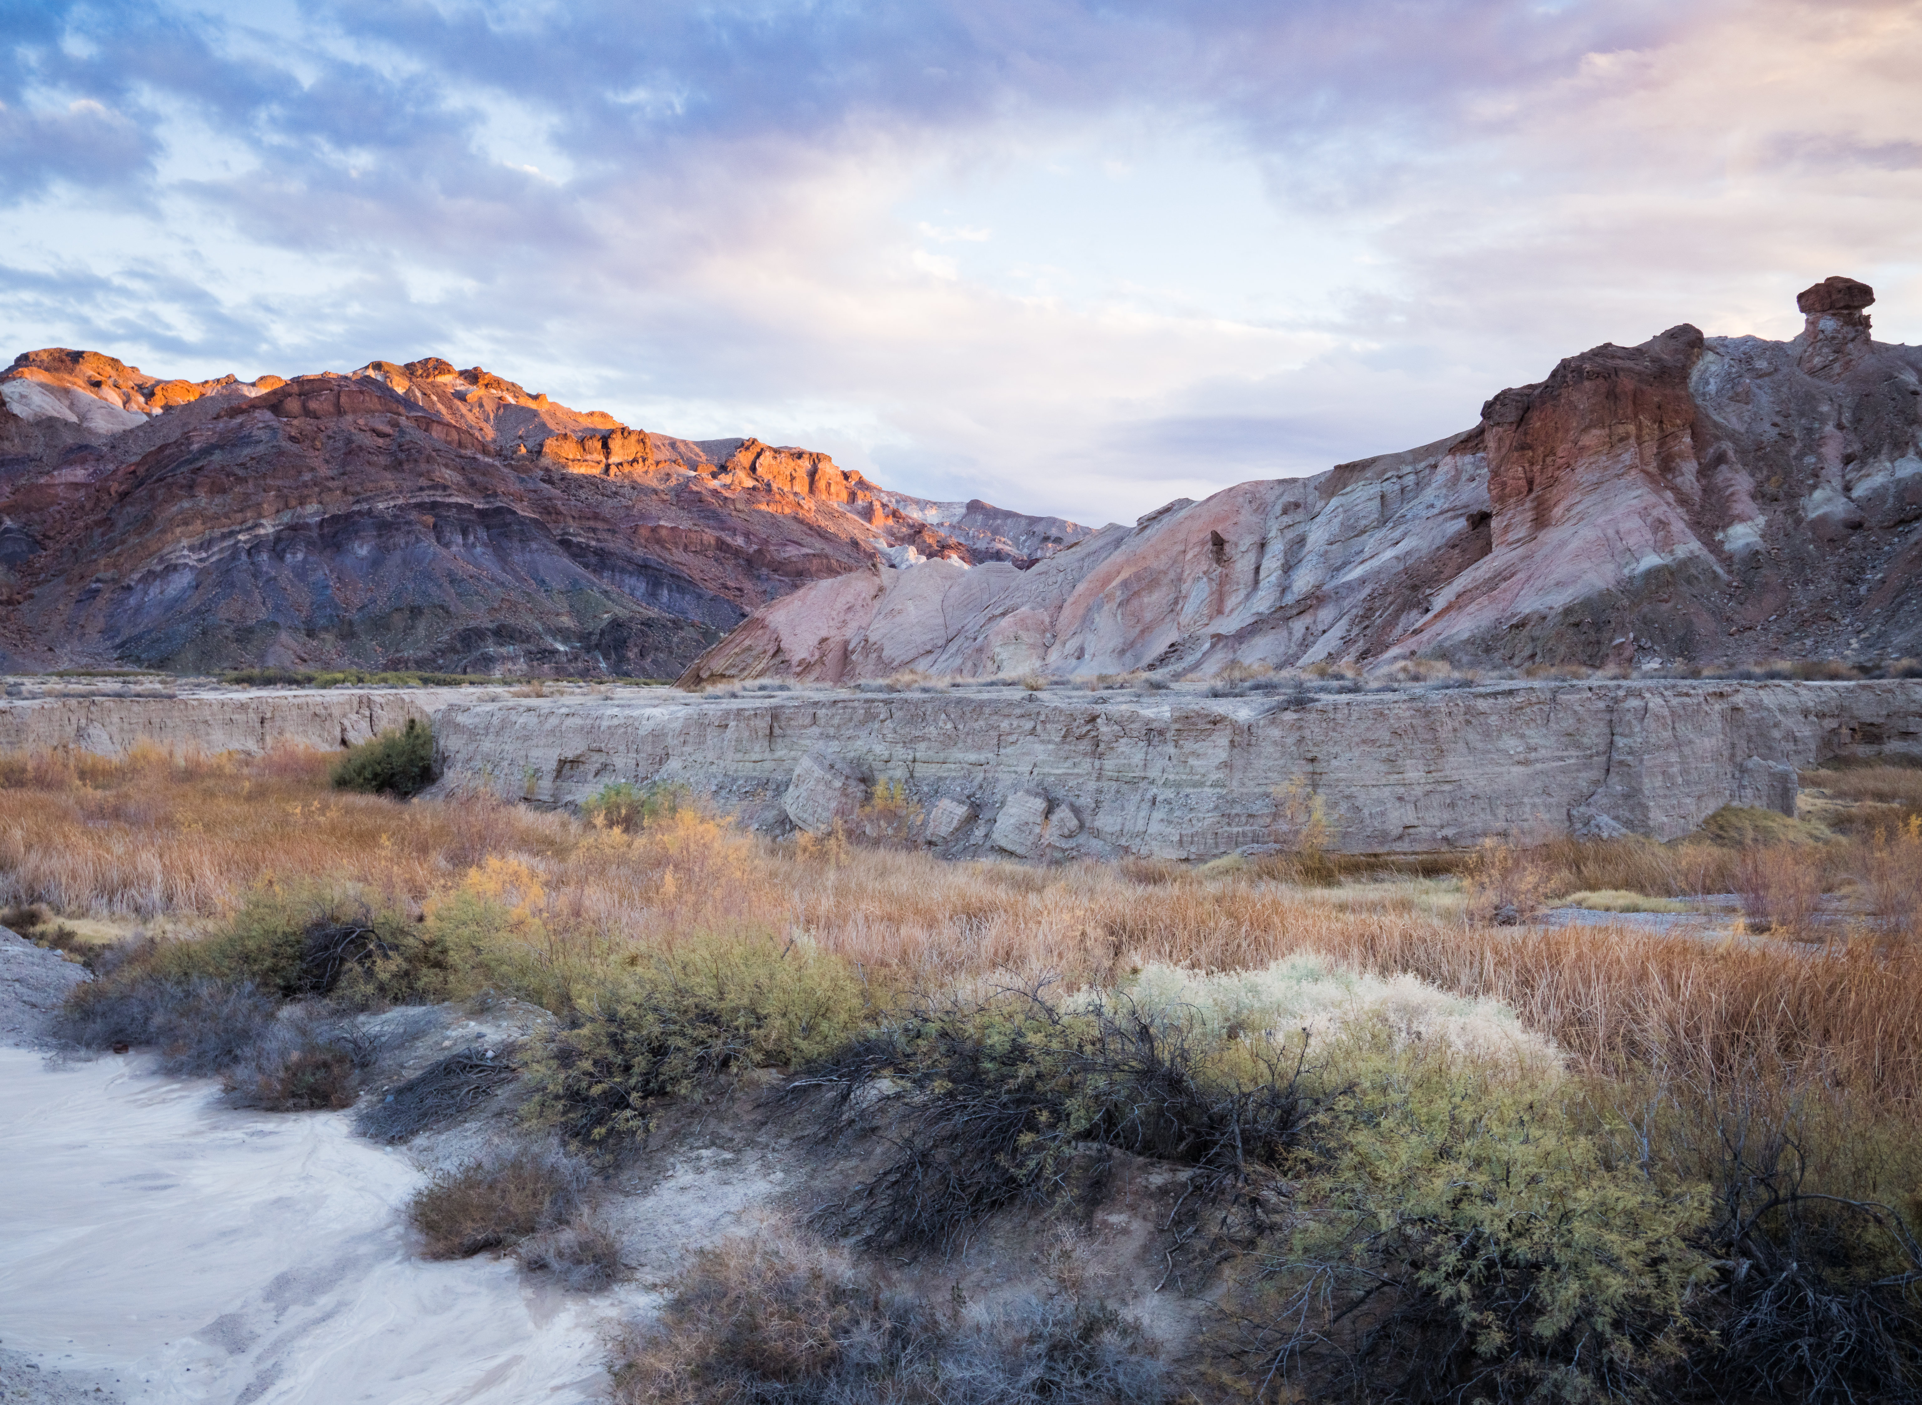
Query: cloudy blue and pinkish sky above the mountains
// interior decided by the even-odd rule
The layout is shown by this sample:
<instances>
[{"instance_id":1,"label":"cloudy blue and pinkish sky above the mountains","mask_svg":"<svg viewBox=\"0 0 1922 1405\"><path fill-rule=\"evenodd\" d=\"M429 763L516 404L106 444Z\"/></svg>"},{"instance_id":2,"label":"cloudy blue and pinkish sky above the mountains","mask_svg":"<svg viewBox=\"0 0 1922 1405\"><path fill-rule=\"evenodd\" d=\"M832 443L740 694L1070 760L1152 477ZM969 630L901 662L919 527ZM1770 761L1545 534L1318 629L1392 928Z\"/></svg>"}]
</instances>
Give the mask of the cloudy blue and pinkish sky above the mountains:
<instances>
[{"instance_id":1,"label":"cloudy blue and pinkish sky above the mountains","mask_svg":"<svg viewBox=\"0 0 1922 1405\"><path fill-rule=\"evenodd\" d=\"M1922 342L1922 0L0 0L0 352L444 356L1132 521L1599 342Z\"/></svg>"}]
</instances>

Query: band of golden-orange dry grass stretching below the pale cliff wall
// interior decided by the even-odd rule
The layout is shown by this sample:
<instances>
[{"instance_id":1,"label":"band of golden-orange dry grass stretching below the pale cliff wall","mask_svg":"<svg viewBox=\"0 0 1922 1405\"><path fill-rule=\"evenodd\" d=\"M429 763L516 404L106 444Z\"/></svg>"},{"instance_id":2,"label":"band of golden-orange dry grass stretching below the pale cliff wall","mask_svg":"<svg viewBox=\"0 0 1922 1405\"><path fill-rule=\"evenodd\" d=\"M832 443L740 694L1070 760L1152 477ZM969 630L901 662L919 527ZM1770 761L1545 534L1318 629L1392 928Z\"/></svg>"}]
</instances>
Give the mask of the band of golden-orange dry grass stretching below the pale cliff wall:
<instances>
[{"instance_id":1,"label":"band of golden-orange dry grass stretching below the pale cliff wall","mask_svg":"<svg viewBox=\"0 0 1922 1405\"><path fill-rule=\"evenodd\" d=\"M1759 1051L1820 1067L1864 1103L1922 1092L1922 961L1887 934L1824 946L1707 944L1632 926L1538 930L1461 917L1451 880L1301 888L1259 867L942 863L903 850L773 844L680 811L638 834L500 801L398 803L325 786L327 755L0 757L0 901L90 919L213 921L263 882L348 882L419 911L479 894L555 971L713 934L773 934L855 963L876 999L990 973L1107 982L1161 963L1253 971L1315 951L1499 999L1597 1071L1728 1069ZM1701 892L1737 859L1549 846L1565 890ZM1711 846L1699 846L1711 850ZM1809 861L1836 846L1795 846ZM1884 888L1922 850L1885 855ZM1691 863L1703 869L1691 871ZM1910 865L1910 867L1903 867ZM1645 882L1576 882L1641 871ZM1893 876L1891 876L1893 875ZM1689 886L1682 886L1689 884ZM565 994L567 982L555 984Z\"/></svg>"}]
</instances>

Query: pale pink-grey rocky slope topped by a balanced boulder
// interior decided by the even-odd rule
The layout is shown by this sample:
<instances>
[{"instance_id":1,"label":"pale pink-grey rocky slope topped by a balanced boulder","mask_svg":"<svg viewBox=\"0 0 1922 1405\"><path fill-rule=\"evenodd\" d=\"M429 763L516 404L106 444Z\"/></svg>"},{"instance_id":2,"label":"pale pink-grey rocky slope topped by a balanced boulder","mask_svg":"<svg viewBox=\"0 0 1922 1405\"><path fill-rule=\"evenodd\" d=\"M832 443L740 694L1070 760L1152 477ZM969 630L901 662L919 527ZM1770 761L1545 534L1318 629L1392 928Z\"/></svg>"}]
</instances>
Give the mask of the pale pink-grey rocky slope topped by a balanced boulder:
<instances>
[{"instance_id":1,"label":"pale pink-grey rocky slope topped by a balanced boulder","mask_svg":"<svg viewBox=\"0 0 1922 1405\"><path fill-rule=\"evenodd\" d=\"M1801 336L1597 346L1434 444L1244 482L1032 569L863 567L688 673L873 678L1922 653L1922 348L1828 279Z\"/></svg>"}]
</instances>

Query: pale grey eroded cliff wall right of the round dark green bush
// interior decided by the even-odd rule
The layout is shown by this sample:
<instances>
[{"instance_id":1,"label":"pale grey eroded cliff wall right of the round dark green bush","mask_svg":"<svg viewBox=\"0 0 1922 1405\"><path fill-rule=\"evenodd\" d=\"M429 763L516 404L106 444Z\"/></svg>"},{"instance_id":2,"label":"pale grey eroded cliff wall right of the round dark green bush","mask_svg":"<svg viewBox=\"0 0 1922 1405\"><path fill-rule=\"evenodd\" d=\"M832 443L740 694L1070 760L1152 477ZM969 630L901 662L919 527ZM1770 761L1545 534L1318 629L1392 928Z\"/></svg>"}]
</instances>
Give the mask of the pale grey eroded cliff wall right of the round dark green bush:
<instances>
[{"instance_id":1,"label":"pale grey eroded cliff wall right of the round dark green bush","mask_svg":"<svg viewBox=\"0 0 1922 1405\"><path fill-rule=\"evenodd\" d=\"M682 782L771 832L850 823L896 782L940 853L1207 859L1288 846L1318 794L1336 848L1668 840L1728 803L1793 813L1795 767L1922 759L1922 684L1507 684L1276 702L1176 696L650 692L452 702L442 786L571 805ZM1292 798L1294 796L1294 798Z\"/></svg>"}]
</instances>

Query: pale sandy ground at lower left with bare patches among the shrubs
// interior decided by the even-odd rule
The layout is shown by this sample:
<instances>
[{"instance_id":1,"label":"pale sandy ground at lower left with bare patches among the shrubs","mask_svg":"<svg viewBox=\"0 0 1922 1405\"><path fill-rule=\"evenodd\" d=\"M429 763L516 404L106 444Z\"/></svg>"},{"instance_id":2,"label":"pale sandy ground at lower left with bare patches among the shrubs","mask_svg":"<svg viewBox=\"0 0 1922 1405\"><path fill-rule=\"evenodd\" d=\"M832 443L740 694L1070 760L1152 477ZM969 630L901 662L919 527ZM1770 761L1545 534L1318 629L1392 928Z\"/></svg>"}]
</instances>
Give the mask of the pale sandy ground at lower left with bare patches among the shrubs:
<instances>
[{"instance_id":1,"label":"pale sandy ground at lower left with bare patches among the shrubs","mask_svg":"<svg viewBox=\"0 0 1922 1405\"><path fill-rule=\"evenodd\" d=\"M657 1151L604 1188L598 1213L621 1244L611 1288L567 1292L509 1257L434 1263L407 1203L434 1171L515 1140L515 1090L394 1147L356 1119L452 1051L507 1053L542 1011L500 1001L363 1019L386 1049L354 1109L267 1113L231 1105L217 1080L158 1074L138 1051L50 1051L46 1015L81 969L10 932L0 959L13 1044L0 1048L8 1401L602 1401L613 1334L655 1317L694 1249L775 1228L848 1172L805 1126L763 1115L748 1086L667 1117ZM1188 1334L1194 1303L1157 1297L1142 1265L1159 1263L1153 1230L1180 1190L1178 1174L1126 1159L1072 1245L1088 1288L1163 1340ZM909 1276L990 1303L1032 1286L1059 1251L998 1224L932 1265L938 1284Z\"/></svg>"}]
</instances>

